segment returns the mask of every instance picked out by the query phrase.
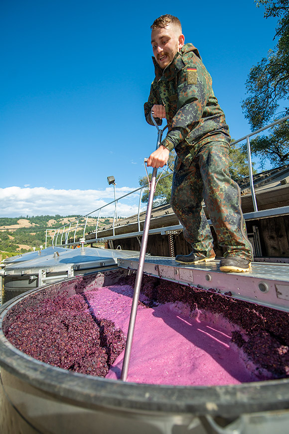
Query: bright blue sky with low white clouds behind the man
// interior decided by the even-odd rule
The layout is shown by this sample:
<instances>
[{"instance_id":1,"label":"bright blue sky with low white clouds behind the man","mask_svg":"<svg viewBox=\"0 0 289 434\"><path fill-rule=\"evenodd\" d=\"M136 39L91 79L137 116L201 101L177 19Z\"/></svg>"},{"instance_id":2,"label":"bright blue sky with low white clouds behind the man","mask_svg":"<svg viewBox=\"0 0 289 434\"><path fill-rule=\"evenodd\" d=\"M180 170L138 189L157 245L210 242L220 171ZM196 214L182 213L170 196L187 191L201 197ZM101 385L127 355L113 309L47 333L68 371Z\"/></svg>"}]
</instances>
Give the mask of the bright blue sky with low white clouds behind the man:
<instances>
[{"instance_id":1,"label":"bright blue sky with low white clouds behind the man","mask_svg":"<svg viewBox=\"0 0 289 434\"><path fill-rule=\"evenodd\" d=\"M276 26L253 0L2 1L0 217L87 214L113 199L111 175L117 197L139 187L156 143L150 25L164 13L199 49L231 136L250 132L245 82Z\"/></svg>"}]
</instances>

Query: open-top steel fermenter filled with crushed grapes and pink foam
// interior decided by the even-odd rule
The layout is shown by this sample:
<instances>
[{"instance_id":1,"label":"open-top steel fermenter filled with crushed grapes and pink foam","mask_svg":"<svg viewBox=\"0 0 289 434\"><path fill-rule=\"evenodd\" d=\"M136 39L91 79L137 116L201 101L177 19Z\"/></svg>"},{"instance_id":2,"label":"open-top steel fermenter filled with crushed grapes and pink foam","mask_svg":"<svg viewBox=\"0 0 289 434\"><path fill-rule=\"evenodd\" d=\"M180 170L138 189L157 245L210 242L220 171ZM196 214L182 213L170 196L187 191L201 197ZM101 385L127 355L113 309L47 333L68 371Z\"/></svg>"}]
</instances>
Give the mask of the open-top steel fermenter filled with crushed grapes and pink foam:
<instances>
[{"instance_id":1,"label":"open-top steel fermenter filled with crushed grapes and pink foam","mask_svg":"<svg viewBox=\"0 0 289 434\"><path fill-rule=\"evenodd\" d=\"M148 259L123 382L135 278L128 261L1 307L1 432L285 433L288 308L243 300L241 285L216 290L214 264L189 267L189 283L176 263L169 270ZM205 289L196 284L202 273L211 276Z\"/></svg>"}]
</instances>

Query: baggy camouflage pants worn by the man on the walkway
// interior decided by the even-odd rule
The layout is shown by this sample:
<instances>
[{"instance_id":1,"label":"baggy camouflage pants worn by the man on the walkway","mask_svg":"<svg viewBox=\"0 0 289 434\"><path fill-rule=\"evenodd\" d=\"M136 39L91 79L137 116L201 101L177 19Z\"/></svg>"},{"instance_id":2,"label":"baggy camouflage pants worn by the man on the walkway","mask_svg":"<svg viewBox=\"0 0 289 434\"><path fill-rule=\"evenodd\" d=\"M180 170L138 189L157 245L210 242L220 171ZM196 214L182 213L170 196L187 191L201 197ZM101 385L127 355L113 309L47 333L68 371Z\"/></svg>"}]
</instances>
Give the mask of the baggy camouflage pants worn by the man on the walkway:
<instances>
[{"instance_id":1,"label":"baggy camouflage pants worn by the man on the walkway","mask_svg":"<svg viewBox=\"0 0 289 434\"><path fill-rule=\"evenodd\" d=\"M184 227L193 251L209 254L213 238L201 202L204 199L224 257L253 259L241 211L240 188L229 174L229 146L210 142L201 147L192 164L181 163L172 180L171 206Z\"/></svg>"}]
</instances>

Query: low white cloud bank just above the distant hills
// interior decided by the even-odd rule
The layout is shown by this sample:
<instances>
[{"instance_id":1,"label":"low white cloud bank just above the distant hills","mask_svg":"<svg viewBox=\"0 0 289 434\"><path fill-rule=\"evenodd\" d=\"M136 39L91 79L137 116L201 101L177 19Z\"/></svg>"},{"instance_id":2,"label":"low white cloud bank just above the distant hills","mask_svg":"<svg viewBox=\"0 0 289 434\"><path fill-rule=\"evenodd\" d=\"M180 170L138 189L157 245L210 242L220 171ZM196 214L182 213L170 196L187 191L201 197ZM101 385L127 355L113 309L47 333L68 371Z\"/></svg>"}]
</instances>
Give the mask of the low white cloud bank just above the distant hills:
<instances>
[{"instance_id":1,"label":"low white cloud bank just above the distant hills","mask_svg":"<svg viewBox=\"0 0 289 434\"><path fill-rule=\"evenodd\" d=\"M116 188L117 199L134 189ZM140 193L133 193L118 202L117 214L129 217L138 213ZM80 214L85 216L95 210L104 217L113 216L115 211L114 189L105 190L55 190L45 187L0 189L0 217L41 216L59 214L61 216ZM108 205L105 207L105 205ZM142 208L144 210L144 207ZM93 215L98 216L99 211Z\"/></svg>"}]
</instances>

